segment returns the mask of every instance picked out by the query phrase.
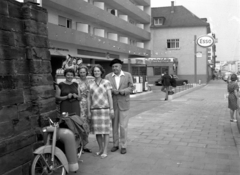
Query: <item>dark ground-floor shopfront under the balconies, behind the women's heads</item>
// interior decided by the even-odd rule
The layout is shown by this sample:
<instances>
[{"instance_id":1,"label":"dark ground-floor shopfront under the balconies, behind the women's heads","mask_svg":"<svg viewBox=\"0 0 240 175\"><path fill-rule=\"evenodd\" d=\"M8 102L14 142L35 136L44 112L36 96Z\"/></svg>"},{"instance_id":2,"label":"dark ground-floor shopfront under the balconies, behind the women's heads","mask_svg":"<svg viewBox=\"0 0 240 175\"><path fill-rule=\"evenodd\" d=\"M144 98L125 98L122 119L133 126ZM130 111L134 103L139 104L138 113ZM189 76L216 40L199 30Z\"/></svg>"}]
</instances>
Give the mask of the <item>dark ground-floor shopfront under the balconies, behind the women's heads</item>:
<instances>
[{"instance_id":1,"label":"dark ground-floor shopfront under the balconies, behind the women's heads","mask_svg":"<svg viewBox=\"0 0 240 175\"><path fill-rule=\"evenodd\" d=\"M103 66L106 73L109 73L112 71L109 66L110 61L120 57L120 55L115 53L76 48L75 45L66 45L65 43L56 41L51 41L49 51L51 54L52 76L56 82L58 82L56 76L58 76L59 79L59 77L62 77L59 75L63 75L63 65L66 61L76 68L81 64L86 65L88 68L91 68L94 64L100 64ZM71 58L68 58L68 55L70 55Z\"/></svg>"}]
</instances>

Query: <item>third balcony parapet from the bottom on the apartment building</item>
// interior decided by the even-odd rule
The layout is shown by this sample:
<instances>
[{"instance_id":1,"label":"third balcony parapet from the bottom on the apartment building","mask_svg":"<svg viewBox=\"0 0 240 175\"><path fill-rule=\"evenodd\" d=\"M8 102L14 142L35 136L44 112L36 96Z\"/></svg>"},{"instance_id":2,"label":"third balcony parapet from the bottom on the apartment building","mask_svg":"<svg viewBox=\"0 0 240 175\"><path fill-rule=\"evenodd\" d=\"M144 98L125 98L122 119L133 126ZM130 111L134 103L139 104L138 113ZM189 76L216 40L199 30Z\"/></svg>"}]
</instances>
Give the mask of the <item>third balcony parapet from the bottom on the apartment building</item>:
<instances>
[{"instance_id":1,"label":"third balcony parapet from the bottom on the apartment building","mask_svg":"<svg viewBox=\"0 0 240 175\"><path fill-rule=\"evenodd\" d=\"M149 24L150 16L141 10L137 5L133 4L127 0L101 0L106 4L111 5L112 7L120 10L122 13L127 14L134 20L137 20L139 23Z\"/></svg>"}]
</instances>

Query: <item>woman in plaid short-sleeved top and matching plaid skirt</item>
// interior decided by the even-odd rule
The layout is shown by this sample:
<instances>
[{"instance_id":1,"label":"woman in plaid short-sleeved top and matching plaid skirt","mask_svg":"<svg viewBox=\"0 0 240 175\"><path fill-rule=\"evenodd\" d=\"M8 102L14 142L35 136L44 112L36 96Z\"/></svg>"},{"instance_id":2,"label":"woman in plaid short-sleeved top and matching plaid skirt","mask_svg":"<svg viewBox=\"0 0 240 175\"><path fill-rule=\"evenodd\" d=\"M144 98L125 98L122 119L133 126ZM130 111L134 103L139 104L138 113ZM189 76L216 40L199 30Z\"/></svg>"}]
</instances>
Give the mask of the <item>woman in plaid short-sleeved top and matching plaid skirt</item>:
<instances>
[{"instance_id":1,"label":"woman in plaid short-sleeved top and matching plaid skirt","mask_svg":"<svg viewBox=\"0 0 240 175\"><path fill-rule=\"evenodd\" d=\"M96 134L99 146L96 155L106 158L110 134L110 117L114 115L112 86L108 80L103 79L104 69L102 66L93 66L92 75L95 80L89 84L88 116L92 119L93 134Z\"/></svg>"}]
</instances>

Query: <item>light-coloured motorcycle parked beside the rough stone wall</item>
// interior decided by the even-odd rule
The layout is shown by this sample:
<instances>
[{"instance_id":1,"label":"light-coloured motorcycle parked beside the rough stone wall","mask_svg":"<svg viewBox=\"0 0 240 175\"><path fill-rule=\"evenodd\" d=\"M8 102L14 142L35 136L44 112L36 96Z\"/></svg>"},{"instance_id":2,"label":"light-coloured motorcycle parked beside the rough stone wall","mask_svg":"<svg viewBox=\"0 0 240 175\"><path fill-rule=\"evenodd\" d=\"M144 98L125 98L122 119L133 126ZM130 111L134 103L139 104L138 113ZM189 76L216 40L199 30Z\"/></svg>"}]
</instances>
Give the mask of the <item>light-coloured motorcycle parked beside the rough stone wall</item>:
<instances>
[{"instance_id":1,"label":"light-coloured motorcycle parked beside the rough stone wall","mask_svg":"<svg viewBox=\"0 0 240 175\"><path fill-rule=\"evenodd\" d=\"M63 113L60 122L53 122L48 118L49 126L42 129L44 145L34 151L31 175L65 175L69 172L77 172L78 159L83 151L83 140L72 130L59 127L62 120L69 120L70 117L67 113ZM60 147L61 144L58 146L59 141L64 148Z\"/></svg>"}]
</instances>

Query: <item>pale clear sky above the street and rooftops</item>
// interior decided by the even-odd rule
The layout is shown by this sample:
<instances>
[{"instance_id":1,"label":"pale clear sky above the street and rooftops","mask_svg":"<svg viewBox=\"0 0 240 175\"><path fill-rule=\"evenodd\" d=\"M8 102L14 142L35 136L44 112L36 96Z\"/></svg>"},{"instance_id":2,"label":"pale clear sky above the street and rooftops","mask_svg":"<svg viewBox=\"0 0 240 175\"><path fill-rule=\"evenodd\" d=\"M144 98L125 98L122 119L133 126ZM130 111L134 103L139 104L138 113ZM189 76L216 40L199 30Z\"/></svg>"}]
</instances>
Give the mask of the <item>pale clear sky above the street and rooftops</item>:
<instances>
[{"instance_id":1,"label":"pale clear sky above the street and rooftops","mask_svg":"<svg viewBox=\"0 0 240 175\"><path fill-rule=\"evenodd\" d=\"M171 1L151 0L151 6L171 6ZM218 39L217 61L240 60L240 0L175 0L174 4L208 19Z\"/></svg>"}]
</instances>

